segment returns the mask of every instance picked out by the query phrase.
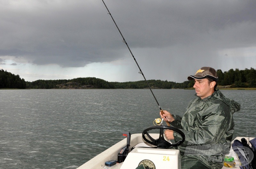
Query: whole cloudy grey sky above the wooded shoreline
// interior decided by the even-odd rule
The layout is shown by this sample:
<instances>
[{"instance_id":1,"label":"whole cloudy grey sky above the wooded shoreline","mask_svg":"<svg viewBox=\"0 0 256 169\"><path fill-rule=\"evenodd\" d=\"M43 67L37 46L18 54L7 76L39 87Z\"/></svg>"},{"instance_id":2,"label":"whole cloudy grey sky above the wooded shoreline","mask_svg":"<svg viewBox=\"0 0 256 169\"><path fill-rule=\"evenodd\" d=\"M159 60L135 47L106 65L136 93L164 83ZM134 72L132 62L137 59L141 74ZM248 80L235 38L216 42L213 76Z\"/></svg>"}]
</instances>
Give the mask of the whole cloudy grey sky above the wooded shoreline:
<instances>
[{"instance_id":1,"label":"whole cloudy grey sky above the wooded shoreline","mask_svg":"<svg viewBox=\"0 0 256 169\"><path fill-rule=\"evenodd\" d=\"M256 1L104 0L147 80L256 68ZM0 0L0 69L25 81L143 77L101 0Z\"/></svg>"}]
</instances>

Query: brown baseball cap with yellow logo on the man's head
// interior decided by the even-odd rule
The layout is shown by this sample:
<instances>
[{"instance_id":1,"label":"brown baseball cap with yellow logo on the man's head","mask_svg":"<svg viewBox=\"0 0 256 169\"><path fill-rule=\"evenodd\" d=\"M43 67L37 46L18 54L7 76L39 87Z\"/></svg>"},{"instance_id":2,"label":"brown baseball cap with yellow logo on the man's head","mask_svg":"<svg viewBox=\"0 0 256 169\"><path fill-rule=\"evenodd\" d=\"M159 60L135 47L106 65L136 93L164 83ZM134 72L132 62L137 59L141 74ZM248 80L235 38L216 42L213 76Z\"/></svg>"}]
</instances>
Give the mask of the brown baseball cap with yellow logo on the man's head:
<instances>
[{"instance_id":1,"label":"brown baseball cap with yellow logo on the man's head","mask_svg":"<svg viewBox=\"0 0 256 169\"><path fill-rule=\"evenodd\" d=\"M201 69L197 70L195 75L188 76L188 80L193 80L193 79L199 80L207 77L210 79L213 79L214 81L218 81L217 72L212 67L201 67Z\"/></svg>"}]
</instances>

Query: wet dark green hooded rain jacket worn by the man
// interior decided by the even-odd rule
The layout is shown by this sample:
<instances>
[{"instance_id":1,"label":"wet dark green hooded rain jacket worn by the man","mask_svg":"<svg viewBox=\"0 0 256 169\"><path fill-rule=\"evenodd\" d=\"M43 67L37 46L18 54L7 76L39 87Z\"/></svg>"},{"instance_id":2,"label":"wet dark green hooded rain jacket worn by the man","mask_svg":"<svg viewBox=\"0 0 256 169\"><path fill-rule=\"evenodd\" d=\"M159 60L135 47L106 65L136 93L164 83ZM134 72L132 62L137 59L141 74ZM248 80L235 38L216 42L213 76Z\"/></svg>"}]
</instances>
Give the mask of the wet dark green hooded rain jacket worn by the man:
<instances>
[{"instance_id":1,"label":"wet dark green hooded rain jacket worn by the man","mask_svg":"<svg viewBox=\"0 0 256 169\"><path fill-rule=\"evenodd\" d=\"M186 137L178 147L181 164L182 158L190 158L203 162L209 168L223 166L234 132L232 115L240 110L240 104L226 98L218 88L216 89L211 96L193 99L189 102L183 117L173 115L175 120L169 122L173 127L183 131ZM181 140L181 136L176 132L173 136L175 142Z\"/></svg>"}]
</instances>

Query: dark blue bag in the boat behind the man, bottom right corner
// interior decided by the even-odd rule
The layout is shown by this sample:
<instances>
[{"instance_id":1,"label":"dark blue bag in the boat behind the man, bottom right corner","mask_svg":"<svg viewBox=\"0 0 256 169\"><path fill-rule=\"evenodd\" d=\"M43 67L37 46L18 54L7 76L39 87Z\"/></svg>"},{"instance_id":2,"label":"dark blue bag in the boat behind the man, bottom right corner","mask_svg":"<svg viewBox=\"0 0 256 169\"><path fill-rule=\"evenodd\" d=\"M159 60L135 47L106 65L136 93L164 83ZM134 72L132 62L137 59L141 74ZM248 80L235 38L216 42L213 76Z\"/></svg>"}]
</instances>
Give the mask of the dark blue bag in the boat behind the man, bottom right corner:
<instances>
[{"instance_id":1,"label":"dark blue bag in the boat behind the man, bottom right corner","mask_svg":"<svg viewBox=\"0 0 256 169\"><path fill-rule=\"evenodd\" d=\"M242 142L241 142L242 141ZM252 148L247 144L245 138L242 138L241 141L234 140L232 144L232 149L237 155L241 165L241 169L256 169L256 139L252 139L250 143L252 144Z\"/></svg>"}]
</instances>

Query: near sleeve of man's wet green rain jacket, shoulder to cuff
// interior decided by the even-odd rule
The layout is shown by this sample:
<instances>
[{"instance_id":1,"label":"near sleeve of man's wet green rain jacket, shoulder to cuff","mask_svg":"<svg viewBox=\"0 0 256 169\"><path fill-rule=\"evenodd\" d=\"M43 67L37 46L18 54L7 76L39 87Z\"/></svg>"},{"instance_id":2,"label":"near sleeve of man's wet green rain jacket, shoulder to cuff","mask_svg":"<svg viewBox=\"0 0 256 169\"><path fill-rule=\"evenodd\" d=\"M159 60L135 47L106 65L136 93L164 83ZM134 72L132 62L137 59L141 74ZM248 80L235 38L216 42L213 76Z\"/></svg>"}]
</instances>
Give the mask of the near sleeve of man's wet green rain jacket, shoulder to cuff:
<instances>
[{"instance_id":1,"label":"near sleeve of man's wet green rain jacket, shoulder to cuff","mask_svg":"<svg viewBox=\"0 0 256 169\"><path fill-rule=\"evenodd\" d=\"M181 129L186 137L182 146L225 143L225 132L234 126L230 109L226 105L213 104L199 112L196 118L194 128ZM181 140L178 133L174 132L173 136L175 142Z\"/></svg>"}]
</instances>

